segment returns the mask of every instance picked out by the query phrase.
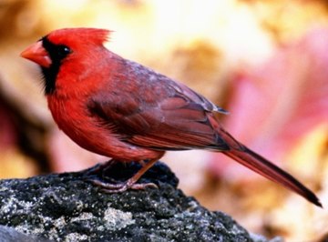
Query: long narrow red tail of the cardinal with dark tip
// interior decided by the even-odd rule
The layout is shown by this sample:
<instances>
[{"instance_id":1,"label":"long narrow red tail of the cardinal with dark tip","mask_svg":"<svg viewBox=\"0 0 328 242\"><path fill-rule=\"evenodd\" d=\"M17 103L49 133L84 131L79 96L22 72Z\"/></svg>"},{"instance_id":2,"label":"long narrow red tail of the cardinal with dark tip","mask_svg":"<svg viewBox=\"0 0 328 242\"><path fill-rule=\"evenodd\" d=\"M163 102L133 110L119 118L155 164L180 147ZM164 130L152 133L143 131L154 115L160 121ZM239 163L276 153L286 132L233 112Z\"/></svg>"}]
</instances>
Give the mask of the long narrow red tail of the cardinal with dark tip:
<instances>
[{"instance_id":1,"label":"long narrow red tail of the cardinal with dark tip","mask_svg":"<svg viewBox=\"0 0 328 242\"><path fill-rule=\"evenodd\" d=\"M316 206L323 207L318 197L316 197L310 189L304 187L302 183L292 175L283 171L278 166L273 165L269 160L251 151L248 147L241 145L241 143L235 140L226 131L220 129L220 135L223 135L221 137L223 137L227 145L231 147L230 150L221 151L223 154L230 156L232 159L241 163L241 165L249 167L261 176L265 176L301 195Z\"/></svg>"}]
</instances>

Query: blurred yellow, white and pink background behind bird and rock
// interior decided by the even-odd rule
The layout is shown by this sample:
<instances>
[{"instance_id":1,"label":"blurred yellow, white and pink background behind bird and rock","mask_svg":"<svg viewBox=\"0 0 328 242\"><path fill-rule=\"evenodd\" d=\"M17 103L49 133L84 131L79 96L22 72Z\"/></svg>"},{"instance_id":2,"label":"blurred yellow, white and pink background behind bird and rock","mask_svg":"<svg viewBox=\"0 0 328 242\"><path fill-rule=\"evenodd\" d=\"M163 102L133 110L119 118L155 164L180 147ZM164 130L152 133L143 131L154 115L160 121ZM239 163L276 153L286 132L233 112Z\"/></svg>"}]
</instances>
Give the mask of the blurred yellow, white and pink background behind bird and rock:
<instances>
[{"instance_id":1,"label":"blurred yellow, white and pink background behind bird and rock","mask_svg":"<svg viewBox=\"0 0 328 242\"><path fill-rule=\"evenodd\" d=\"M328 207L328 2L1 0L0 178L75 171L108 158L54 124L38 67L19 57L51 30L113 30L107 46L230 111L231 134L298 177ZM328 212L217 153L168 153L179 187L243 227L327 241Z\"/></svg>"}]
</instances>

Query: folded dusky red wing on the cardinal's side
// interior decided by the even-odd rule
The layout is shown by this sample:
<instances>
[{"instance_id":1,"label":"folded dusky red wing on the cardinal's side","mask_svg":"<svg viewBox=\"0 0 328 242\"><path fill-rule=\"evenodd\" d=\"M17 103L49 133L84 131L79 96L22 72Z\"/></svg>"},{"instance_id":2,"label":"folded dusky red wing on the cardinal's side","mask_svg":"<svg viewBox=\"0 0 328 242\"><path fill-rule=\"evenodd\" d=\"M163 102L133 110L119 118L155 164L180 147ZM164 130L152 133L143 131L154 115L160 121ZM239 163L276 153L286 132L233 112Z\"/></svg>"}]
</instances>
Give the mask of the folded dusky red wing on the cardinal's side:
<instances>
[{"instance_id":1,"label":"folded dusky red wing on the cardinal's side","mask_svg":"<svg viewBox=\"0 0 328 242\"><path fill-rule=\"evenodd\" d=\"M209 120L213 112L223 109L166 76L142 71L142 75L137 71L120 78L115 91L104 88L94 96L88 104L91 116L137 146L159 150L229 148ZM130 88L129 92L124 88Z\"/></svg>"}]
</instances>

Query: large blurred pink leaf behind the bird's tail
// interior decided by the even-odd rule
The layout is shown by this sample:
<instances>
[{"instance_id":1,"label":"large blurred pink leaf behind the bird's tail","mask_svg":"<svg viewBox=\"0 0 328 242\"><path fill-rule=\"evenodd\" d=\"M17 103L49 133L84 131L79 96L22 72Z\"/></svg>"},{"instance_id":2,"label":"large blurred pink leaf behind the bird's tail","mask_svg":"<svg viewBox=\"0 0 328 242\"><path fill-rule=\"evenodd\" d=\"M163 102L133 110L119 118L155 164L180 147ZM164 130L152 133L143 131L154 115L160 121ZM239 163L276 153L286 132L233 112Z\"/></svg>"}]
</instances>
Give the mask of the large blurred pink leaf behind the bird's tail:
<instances>
[{"instance_id":1,"label":"large blurred pink leaf behind the bird's tail","mask_svg":"<svg viewBox=\"0 0 328 242\"><path fill-rule=\"evenodd\" d=\"M328 28L282 47L263 66L236 75L232 86L226 129L273 162L282 160L302 136L328 124ZM240 176L239 165L222 156L213 153L211 161L217 174Z\"/></svg>"}]
</instances>

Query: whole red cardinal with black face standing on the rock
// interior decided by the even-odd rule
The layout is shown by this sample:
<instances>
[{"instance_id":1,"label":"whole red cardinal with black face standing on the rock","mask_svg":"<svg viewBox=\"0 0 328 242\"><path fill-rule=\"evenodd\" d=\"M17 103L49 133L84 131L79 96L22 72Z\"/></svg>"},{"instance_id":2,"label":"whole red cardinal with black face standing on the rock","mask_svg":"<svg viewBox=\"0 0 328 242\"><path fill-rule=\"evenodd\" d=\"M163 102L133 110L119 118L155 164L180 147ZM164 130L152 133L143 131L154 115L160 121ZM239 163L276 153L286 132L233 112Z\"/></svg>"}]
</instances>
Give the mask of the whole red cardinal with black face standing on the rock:
<instances>
[{"instance_id":1,"label":"whole red cardinal with black face standing on the rock","mask_svg":"<svg viewBox=\"0 0 328 242\"><path fill-rule=\"evenodd\" d=\"M21 56L41 66L56 124L79 146L116 162L142 167L126 182L95 182L108 192L140 189L142 176L167 150L207 149L251 168L322 207L311 190L225 131L225 113L188 86L109 51L110 31L64 28ZM110 165L107 165L110 166Z\"/></svg>"}]
</instances>

